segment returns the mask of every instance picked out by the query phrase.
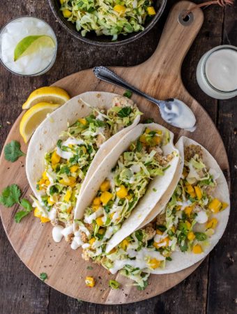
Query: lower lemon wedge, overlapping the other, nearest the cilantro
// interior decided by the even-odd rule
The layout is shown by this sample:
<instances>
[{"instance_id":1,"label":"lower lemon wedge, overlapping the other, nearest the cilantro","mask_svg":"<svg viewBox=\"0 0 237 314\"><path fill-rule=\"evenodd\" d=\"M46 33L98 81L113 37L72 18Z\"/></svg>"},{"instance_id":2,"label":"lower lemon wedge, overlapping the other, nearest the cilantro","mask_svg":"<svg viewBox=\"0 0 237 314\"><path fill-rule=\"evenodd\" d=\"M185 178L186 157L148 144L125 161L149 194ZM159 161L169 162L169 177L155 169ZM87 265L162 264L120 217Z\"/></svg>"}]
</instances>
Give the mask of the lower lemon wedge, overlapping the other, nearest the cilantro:
<instances>
[{"instance_id":1,"label":"lower lemon wedge, overlapping the other, nearest the cilantro","mask_svg":"<svg viewBox=\"0 0 237 314\"><path fill-rule=\"evenodd\" d=\"M61 105L51 103L38 103L27 110L20 121L20 135L22 135L25 143L29 141L31 135L37 126L47 117L47 114L53 112Z\"/></svg>"}]
</instances>

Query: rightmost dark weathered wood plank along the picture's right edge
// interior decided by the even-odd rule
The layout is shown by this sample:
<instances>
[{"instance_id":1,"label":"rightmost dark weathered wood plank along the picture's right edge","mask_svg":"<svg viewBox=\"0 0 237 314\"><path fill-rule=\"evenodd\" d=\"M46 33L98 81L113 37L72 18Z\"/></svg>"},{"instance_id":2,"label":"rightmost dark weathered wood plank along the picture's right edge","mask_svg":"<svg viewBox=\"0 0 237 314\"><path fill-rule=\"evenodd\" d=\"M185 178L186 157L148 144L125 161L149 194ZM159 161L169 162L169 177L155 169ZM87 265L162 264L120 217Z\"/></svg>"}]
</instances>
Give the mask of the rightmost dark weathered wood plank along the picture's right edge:
<instances>
[{"instance_id":1,"label":"rightmost dark weathered wood plank along the picture's right edge","mask_svg":"<svg viewBox=\"0 0 237 314\"><path fill-rule=\"evenodd\" d=\"M237 5L226 8L223 44L237 46ZM237 311L237 107L236 98L219 101L218 129L224 140L231 170L231 214L220 244L210 254L207 313Z\"/></svg>"}]
</instances>

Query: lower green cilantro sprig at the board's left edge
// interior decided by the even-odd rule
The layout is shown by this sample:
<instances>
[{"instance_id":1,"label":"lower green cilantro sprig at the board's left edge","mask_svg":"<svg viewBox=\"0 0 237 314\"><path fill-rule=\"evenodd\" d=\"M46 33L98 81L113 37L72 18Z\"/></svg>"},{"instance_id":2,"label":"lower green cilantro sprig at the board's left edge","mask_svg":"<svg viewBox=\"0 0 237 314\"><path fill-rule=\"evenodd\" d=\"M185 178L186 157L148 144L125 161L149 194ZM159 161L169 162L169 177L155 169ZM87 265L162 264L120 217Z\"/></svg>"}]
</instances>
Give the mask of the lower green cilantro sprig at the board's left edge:
<instances>
[{"instance_id":1,"label":"lower green cilantro sprig at the board's left edge","mask_svg":"<svg viewBox=\"0 0 237 314\"><path fill-rule=\"evenodd\" d=\"M24 208L24 210L18 211L17 214L15 214L16 223L20 223L22 218L27 216L33 209L29 200L26 200L25 198L20 200L21 195L22 192L17 184L7 186L0 195L0 203L3 204L3 206L13 207L15 204L20 204L20 206Z\"/></svg>"}]
</instances>

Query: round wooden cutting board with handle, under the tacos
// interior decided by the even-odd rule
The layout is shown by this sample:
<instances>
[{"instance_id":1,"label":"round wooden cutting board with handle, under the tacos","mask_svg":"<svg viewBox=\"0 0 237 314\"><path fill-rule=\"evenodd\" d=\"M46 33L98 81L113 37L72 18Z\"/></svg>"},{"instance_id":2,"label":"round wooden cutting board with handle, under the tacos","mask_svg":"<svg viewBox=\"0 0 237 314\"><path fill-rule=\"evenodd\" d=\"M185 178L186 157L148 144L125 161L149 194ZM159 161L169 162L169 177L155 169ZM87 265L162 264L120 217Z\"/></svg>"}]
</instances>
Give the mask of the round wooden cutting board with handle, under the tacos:
<instances>
[{"instance_id":1,"label":"round wooden cutting board with handle, under the tacos","mask_svg":"<svg viewBox=\"0 0 237 314\"><path fill-rule=\"evenodd\" d=\"M211 118L201 105L188 94L181 81L181 64L203 22L203 13L199 9L193 11L193 21L190 20L184 24L178 22L180 13L192 6L194 3L189 1L181 1L174 6L158 48L148 61L135 67L114 67L112 70L153 97L161 99L176 97L188 104L197 117L197 129L194 133L171 128L162 121L155 105L138 96L132 96L139 109L145 113L144 118L152 117L155 122L169 128L175 133L175 140L181 135L186 135L206 147L227 174L229 182L229 165L222 139ZM84 91L109 91L117 94L124 92L122 89L95 78L92 70L75 73L59 80L54 85L66 89L70 96L81 94ZM23 143L19 133L20 119L21 116L15 121L6 143L10 140L18 140L22 144L22 150L26 152L27 146ZM15 183L22 189L22 195L29 197L31 190L24 170L25 158L21 157L15 163L9 163L2 154L0 163L0 190ZM33 217L33 214L22 219L21 223L15 223L16 211L17 206L12 209L1 207L1 220L17 255L36 276L42 272L47 273L46 283L48 285L77 299L98 304L141 301L174 287L198 266L195 264L175 274L153 275L149 278L146 290L138 291L136 287L130 285L131 281L122 276L112 276L102 267L82 260L80 249L72 251L66 241L61 241L59 244L54 243L52 225L40 224L39 219ZM88 266L92 266L93 270L88 269ZM93 276L96 279L95 287L86 287L84 283L86 276ZM123 283L120 290L111 290L108 287L108 281L112 278Z\"/></svg>"}]
</instances>

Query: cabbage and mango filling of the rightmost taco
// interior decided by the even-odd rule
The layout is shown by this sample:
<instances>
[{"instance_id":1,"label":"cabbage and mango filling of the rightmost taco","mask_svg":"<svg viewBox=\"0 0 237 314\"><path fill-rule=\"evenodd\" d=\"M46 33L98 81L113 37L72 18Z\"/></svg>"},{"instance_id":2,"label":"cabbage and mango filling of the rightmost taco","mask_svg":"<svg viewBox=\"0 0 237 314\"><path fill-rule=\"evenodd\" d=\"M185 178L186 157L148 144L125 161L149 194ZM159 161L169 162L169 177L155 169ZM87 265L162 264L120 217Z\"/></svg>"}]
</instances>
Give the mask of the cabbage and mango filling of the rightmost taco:
<instances>
[{"instance_id":1,"label":"cabbage and mango filling of the rightmost taco","mask_svg":"<svg viewBox=\"0 0 237 314\"><path fill-rule=\"evenodd\" d=\"M204 253L218 227L216 214L229 206L215 198L217 177L204 164L201 147L186 147L183 174L165 210L103 256L102 266L112 274L120 270L144 289L149 274L165 268L175 251Z\"/></svg>"}]
</instances>

